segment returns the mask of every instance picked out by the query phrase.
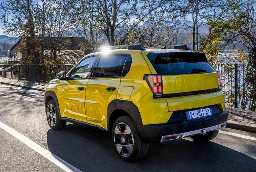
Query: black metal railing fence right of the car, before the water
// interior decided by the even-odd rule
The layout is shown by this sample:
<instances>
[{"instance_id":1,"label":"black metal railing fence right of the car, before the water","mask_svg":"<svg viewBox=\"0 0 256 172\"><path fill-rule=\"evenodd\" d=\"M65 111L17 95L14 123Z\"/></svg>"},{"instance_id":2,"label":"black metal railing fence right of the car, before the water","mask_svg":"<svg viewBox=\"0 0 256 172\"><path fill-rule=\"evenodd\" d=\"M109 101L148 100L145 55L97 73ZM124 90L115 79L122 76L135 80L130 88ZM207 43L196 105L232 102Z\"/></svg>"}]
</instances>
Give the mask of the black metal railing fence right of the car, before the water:
<instances>
[{"instance_id":1,"label":"black metal railing fence right of the car, before the water","mask_svg":"<svg viewBox=\"0 0 256 172\"><path fill-rule=\"evenodd\" d=\"M226 104L234 108L255 109L255 69L251 64L213 64L222 74Z\"/></svg>"}]
</instances>

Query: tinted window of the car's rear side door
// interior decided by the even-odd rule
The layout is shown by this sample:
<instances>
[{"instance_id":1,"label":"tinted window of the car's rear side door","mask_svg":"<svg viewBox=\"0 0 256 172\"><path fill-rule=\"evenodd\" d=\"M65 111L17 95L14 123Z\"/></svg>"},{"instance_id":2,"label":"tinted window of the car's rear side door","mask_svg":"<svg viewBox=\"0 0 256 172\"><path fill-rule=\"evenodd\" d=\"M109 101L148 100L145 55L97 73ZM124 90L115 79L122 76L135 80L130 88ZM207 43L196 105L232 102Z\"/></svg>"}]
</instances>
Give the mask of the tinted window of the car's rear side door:
<instances>
[{"instance_id":1,"label":"tinted window of the car's rear side door","mask_svg":"<svg viewBox=\"0 0 256 172\"><path fill-rule=\"evenodd\" d=\"M126 54L111 54L101 56L93 77L121 76Z\"/></svg>"}]
</instances>

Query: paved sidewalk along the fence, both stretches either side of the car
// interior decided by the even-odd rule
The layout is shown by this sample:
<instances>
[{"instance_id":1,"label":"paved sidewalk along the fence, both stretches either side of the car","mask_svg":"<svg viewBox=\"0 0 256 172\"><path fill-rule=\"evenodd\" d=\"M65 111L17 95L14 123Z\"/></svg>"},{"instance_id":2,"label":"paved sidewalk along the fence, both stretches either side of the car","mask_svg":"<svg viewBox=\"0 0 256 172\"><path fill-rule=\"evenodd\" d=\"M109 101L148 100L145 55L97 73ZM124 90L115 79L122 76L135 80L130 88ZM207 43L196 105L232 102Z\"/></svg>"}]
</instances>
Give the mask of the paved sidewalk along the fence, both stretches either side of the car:
<instances>
[{"instance_id":1,"label":"paved sidewalk along the fence, both stretches either side of the car","mask_svg":"<svg viewBox=\"0 0 256 172\"><path fill-rule=\"evenodd\" d=\"M45 91L47 86L38 85L35 82L27 82L26 80L17 80L10 78L0 77L0 84L13 85L24 87L28 89L35 89ZM256 111L241 110L227 108L228 111L228 124L227 127L246 130L256 133Z\"/></svg>"}]
</instances>

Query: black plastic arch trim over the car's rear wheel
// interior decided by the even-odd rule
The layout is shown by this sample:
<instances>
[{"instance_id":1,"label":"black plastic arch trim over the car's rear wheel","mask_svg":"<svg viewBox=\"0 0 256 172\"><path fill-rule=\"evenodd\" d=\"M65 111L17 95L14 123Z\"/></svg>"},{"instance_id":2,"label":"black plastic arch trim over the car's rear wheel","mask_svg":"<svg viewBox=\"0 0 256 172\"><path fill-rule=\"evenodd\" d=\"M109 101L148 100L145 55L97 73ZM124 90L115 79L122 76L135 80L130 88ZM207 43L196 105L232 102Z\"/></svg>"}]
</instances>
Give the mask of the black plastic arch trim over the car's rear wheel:
<instances>
[{"instance_id":1,"label":"black plastic arch trim over the car's rear wheel","mask_svg":"<svg viewBox=\"0 0 256 172\"><path fill-rule=\"evenodd\" d=\"M125 114L117 115L115 112L124 112ZM142 125L142 120L138 107L129 100L112 100L107 109L107 126L108 130L111 131L113 121L111 119L116 119L120 116L129 115L134 120L136 125ZM112 117L111 117L112 116ZM115 116L115 117L113 117ZM115 122L115 121L114 121Z\"/></svg>"}]
</instances>

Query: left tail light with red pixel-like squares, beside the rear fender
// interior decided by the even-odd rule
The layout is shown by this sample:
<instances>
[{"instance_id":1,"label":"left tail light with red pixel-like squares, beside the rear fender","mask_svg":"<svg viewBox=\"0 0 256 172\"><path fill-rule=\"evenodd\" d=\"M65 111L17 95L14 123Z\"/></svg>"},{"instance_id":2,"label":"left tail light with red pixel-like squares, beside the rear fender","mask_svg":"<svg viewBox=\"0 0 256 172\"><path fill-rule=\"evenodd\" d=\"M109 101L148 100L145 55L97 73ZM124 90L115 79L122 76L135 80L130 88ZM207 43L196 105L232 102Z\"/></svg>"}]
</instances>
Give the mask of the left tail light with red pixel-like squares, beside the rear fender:
<instances>
[{"instance_id":1,"label":"left tail light with red pixel-like squares, beside the rear fender","mask_svg":"<svg viewBox=\"0 0 256 172\"><path fill-rule=\"evenodd\" d=\"M144 80L146 80L148 86L150 87L154 98L163 96L162 75L145 75Z\"/></svg>"}]
</instances>

